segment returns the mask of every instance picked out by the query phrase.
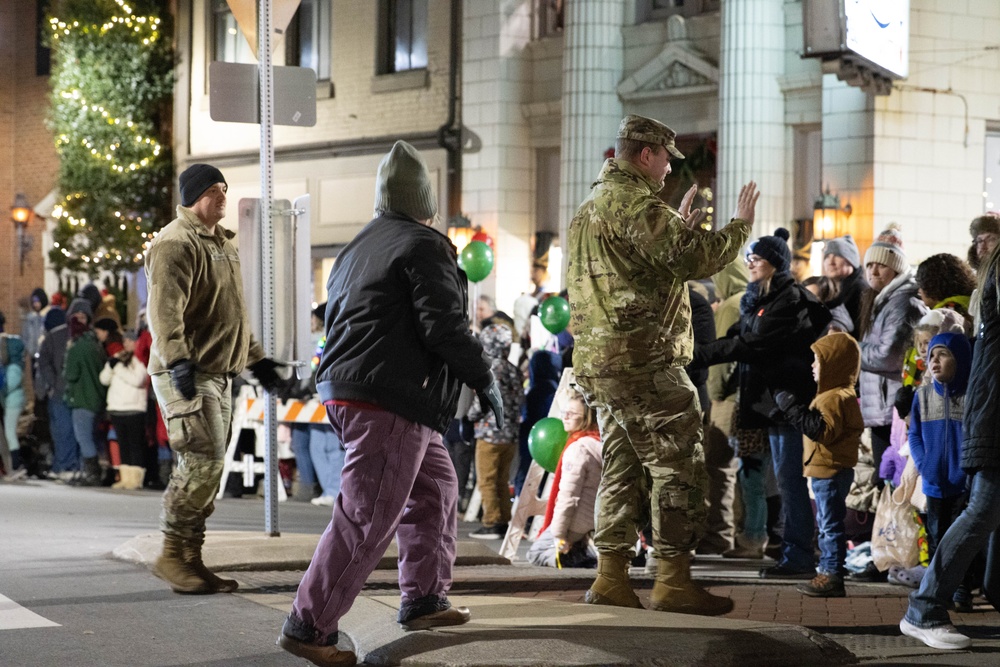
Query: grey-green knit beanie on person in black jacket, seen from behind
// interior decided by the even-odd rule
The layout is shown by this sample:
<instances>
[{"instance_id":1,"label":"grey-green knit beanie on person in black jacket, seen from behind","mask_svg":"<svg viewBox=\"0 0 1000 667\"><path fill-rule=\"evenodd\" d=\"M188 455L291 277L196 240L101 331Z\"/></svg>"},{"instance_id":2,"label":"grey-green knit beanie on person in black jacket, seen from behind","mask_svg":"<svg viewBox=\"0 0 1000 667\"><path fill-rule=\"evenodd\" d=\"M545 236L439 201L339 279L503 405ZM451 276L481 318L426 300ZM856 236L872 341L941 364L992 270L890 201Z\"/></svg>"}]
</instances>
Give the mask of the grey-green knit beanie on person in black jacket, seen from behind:
<instances>
[{"instance_id":1,"label":"grey-green knit beanie on person in black jacket, seen from behind","mask_svg":"<svg viewBox=\"0 0 1000 667\"><path fill-rule=\"evenodd\" d=\"M417 149L397 141L378 165L375 177L375 212L402 213L427 220L437 213L427 165Z\"/></svg>"}]
</instances>

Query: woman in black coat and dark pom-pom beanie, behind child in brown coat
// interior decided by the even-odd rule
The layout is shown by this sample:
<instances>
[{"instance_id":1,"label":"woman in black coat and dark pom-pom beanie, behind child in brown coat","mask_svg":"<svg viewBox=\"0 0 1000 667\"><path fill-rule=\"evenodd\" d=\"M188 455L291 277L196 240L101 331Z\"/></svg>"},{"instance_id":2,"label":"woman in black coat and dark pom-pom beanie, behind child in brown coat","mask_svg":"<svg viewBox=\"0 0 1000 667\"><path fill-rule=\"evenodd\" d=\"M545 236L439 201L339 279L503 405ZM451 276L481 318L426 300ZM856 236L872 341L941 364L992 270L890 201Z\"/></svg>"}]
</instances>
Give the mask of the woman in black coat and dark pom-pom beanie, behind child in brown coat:
<instances>
[{"instance_id":1,"label":"woman in black coat and dark pom-pom beanie, behind child in brown coat","mask_svg":"<svg viewBox=\"0 0 1000 667\"><path fill-rule=\"evenodd\" d=\"M814 573L812 506L802 476L802 433L781 418L779 391L808 404L816 394L810 346L830 323L830 313L789 273L788 231L762 236L750 245L751 283L740 301L740 321L724 338L700 346L696 360L738 362L740 427L766 429L781 493L784 545L781 560L764 568L766 578L808 578Z\"/></svg>"}]
</instances>

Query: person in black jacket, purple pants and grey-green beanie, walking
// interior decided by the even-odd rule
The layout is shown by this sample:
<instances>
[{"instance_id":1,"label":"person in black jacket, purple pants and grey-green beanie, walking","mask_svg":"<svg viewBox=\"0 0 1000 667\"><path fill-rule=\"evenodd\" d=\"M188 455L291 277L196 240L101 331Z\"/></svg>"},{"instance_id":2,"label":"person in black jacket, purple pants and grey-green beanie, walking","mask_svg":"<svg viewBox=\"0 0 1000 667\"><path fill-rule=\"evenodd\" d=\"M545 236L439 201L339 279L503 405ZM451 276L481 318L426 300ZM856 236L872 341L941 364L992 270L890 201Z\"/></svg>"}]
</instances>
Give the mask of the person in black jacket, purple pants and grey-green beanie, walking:
<instances>
[{"instance_id":1,"label":"person in black jacket, purple pants and grey-green beanie, walking","mask_svg":"<svg viewBox=\"0 0 1000 667\"><path fill-rule=\"evenodd\" d=\"M441 434L463 382L503 423L490 360L469 328L455 246L430 227L437 202L415 148L395 143L379 164L375 193L376 218L330 272L316 374L347 450L341 491L278 638L316 664L354 664L335 645L338 623L393 536L400 625L469 620L469 610L447 597L458 482Z\"/></svg>"}]
</instances>

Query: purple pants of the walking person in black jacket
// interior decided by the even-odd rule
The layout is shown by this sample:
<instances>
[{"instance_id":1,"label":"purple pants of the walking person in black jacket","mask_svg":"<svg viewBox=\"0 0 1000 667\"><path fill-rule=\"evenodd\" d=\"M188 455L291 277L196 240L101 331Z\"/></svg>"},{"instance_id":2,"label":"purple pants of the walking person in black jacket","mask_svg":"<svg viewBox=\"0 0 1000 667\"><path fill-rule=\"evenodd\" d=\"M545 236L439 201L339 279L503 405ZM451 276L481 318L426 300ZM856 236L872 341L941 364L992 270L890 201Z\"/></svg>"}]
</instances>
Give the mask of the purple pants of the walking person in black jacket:
<instances>
[{"instance_id":1,"label":"purple pants of the walking person in black jacket","mask_svg":"<svg viewBox=\"0 0 1000 667\"><path fill-rule=\"evenodd\" d=\"M289 619L316 643L336 639L393 535L403 600L445 595L458 533L458 481L440 433L386 410L331 405L327 416L347 449L340 495Z\"/></svg>"}]
</instances>

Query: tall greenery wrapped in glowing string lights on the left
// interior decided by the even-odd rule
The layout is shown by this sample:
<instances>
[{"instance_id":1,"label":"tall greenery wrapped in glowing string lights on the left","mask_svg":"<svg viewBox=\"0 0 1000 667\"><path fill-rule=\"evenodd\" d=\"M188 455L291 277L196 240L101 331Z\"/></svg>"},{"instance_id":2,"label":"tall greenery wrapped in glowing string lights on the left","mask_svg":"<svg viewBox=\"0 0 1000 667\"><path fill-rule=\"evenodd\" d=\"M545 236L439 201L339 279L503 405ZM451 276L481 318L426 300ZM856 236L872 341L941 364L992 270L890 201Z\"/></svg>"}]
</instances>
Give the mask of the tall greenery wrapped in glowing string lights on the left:
<instances>
[{"instance_id":1,"label":"tall greenery wrapped in glowing string lights on the left","mask_svg":"<svg viewBox=\"0 0 1000 667\"><path fill-rule=\"evenodd\" d=\"M57 273L116 275L172 218L173 51L165 2L55 0L49 118L60 157Z\"/></svg>"}]
</instances>

